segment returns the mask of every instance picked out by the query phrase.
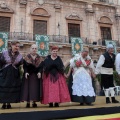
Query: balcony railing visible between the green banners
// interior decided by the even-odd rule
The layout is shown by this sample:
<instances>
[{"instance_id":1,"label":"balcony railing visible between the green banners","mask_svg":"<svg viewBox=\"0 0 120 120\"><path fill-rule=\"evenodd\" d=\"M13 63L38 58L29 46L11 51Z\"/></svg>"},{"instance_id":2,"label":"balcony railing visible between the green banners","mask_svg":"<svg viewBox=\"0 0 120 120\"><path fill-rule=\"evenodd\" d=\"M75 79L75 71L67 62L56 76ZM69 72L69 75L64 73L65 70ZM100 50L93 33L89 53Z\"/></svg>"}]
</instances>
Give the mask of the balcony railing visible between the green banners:
<instances>
[{"instance_id":1,"label":"balcony railing visible between the green banners","mask_svg":"<svg viewBox=\"0 0 120 120\"><path fill-rule=\"evenodd\" d=\"M49 41L50 42L55 42L55 43L71 43L71 39L69 36L64 36L64 35L48 35L49 36ZM32 33L21 33L21 32L10 32L8 33L8 39L9 40L21 40L21 41L35 41L35 34ZM88 38L81 37L82 41L84 44L89 45L102 45L105 46L105 40L99 39L98 41L95 41L93 43L90 42ZM120 42L118 40L113 40L116 41L116 45L120 46Z\"/></svg>"}]
</instances>

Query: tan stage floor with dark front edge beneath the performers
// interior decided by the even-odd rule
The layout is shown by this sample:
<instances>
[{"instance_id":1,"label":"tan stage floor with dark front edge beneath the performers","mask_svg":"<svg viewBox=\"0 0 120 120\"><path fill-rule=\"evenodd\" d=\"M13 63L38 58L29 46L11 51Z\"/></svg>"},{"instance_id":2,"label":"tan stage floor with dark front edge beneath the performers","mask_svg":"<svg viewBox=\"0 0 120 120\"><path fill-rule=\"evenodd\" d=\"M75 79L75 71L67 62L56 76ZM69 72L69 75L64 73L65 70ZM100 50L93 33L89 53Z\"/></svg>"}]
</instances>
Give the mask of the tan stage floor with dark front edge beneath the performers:
<instances>
[{"instance_id":1,"label":"tan stage floor with dark front edge beneath the performers","mask_svg":"<svg viewBox=\"0 0 120 120\"><path fill-rule=\"evenodd\" d=\"M120 101L120 96L117 96L116 99ZM80 106L79 103L72 102L60 104L58 108L49 108L48 105L40 103L37 103L37 108L25 108L26 103L11 105L12 109L0 109L0 120L60 120L120 113L120 103L106 104L105 97L102 96L97 96L96 102L92 106Z\"/></svg>"}]
</instances>

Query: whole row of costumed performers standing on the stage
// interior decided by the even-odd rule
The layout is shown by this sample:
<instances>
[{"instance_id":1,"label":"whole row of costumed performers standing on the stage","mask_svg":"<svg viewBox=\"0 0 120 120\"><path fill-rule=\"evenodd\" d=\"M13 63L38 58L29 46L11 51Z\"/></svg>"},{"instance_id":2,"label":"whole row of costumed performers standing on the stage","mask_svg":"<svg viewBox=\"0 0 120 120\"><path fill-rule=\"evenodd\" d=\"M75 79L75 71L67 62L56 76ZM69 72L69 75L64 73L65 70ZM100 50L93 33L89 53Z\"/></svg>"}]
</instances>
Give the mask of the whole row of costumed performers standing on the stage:
<instances>
[{"instance_id":1,"label":"whole row of costumed performers standing on the stage","mask_svg":"<svg viewBox=\"0 0 120 120\"><path fill-rule=\"evenodd\" d=\"M68 73L58 56L59 48L52 46L51 54L42 58L37 54L37 46L33 44L25 56L19 53L19 42L11 42L11 47L0 56L0 103L2 109L11 109L11 103L26 101L29 108L37 107L36 102L59 107L63 102L78 102L80 105L91 105L95 102L93 78L101 74L101 85L106 103L119 103L115 99L113 69L120 75L120 54L115 57L112 45L98 60L96 68L88 50L76 54L67 64ZM116 62L115 62L116 61ZM21 77L20 66L23 68ZM66 82L68 79L68 85ZM111 100L110 100L111 97Z\"/></svg>"}]
</instances>

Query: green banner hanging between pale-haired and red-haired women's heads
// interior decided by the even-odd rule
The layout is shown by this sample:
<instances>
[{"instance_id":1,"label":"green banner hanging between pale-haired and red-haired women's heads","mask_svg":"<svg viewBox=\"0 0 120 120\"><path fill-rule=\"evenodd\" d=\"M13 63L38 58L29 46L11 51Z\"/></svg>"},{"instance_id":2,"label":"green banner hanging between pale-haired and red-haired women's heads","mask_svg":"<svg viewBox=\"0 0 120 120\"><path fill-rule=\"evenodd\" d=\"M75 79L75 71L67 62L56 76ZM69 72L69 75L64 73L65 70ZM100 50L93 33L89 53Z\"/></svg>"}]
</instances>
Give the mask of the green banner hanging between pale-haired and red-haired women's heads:
<instances>
[{"instance_id":1,"label":"green banner hanging between pale-haired and red-haired women's heads","mask_svg":"<svg viewBox=\"0 0 120 120\"><path fill-rule=\"evenodd\" d=\"M35 35L35 40L38 46L38 54L47 56L49 54L49 37L46 35Z\"/></svg>"}]
</instances>

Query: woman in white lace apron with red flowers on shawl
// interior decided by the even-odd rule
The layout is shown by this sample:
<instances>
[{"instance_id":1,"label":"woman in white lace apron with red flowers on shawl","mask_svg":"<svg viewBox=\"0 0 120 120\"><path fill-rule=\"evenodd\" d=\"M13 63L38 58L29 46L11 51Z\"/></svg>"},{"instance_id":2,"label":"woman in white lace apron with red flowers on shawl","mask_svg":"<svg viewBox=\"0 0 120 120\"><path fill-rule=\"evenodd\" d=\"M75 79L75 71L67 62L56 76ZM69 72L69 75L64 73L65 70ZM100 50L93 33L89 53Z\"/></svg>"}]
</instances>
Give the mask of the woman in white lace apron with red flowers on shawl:
<instances>
[{"instance_id":1,"label":"woman in white lace apron with red flowers on shawl","mask_svg":"<svg viewBox=\"0 0 120 120\"><path fill-rule=\"evenodd\" d=\"M79 102L80 105L91 105L95 102L95 92L92 86L91 75L94 75L94 66L92 59L88 56L88 51L76 54L70 60L70 69L67 77L72 70L72 102ZM71 77L72 78L72 77Z\"/></svg>"}]
</instances>

